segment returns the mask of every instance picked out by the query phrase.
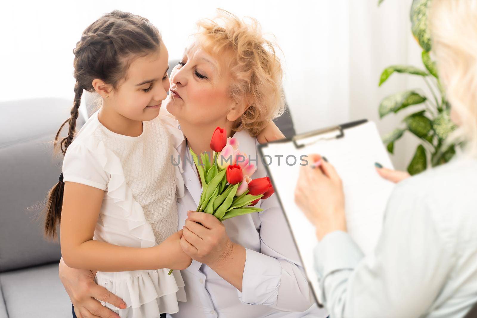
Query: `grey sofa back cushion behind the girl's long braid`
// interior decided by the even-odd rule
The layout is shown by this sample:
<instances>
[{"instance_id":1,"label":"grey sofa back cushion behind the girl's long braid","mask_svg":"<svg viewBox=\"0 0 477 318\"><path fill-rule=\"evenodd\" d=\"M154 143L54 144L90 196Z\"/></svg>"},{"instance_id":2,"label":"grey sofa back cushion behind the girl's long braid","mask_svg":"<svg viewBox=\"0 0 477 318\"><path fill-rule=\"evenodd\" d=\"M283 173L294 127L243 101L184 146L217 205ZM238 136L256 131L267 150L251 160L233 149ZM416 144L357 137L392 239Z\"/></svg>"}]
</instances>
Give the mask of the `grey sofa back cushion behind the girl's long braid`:
<instances>
[{"instance_id":1,"label":"grey sofa back cushion behind the girl's long braid","mask_svg":"<svg viewBox=\"0 0 477 318\"><path fill-rule=\"evenodd\" d=\"M52 140L70 116L71 102L36 99L0 103L0 272L60 259L60 246L43 238L41 203L58 182L62 156ZM38 220L37 220L38 219Z\"/></svg>"}]
</instances>

